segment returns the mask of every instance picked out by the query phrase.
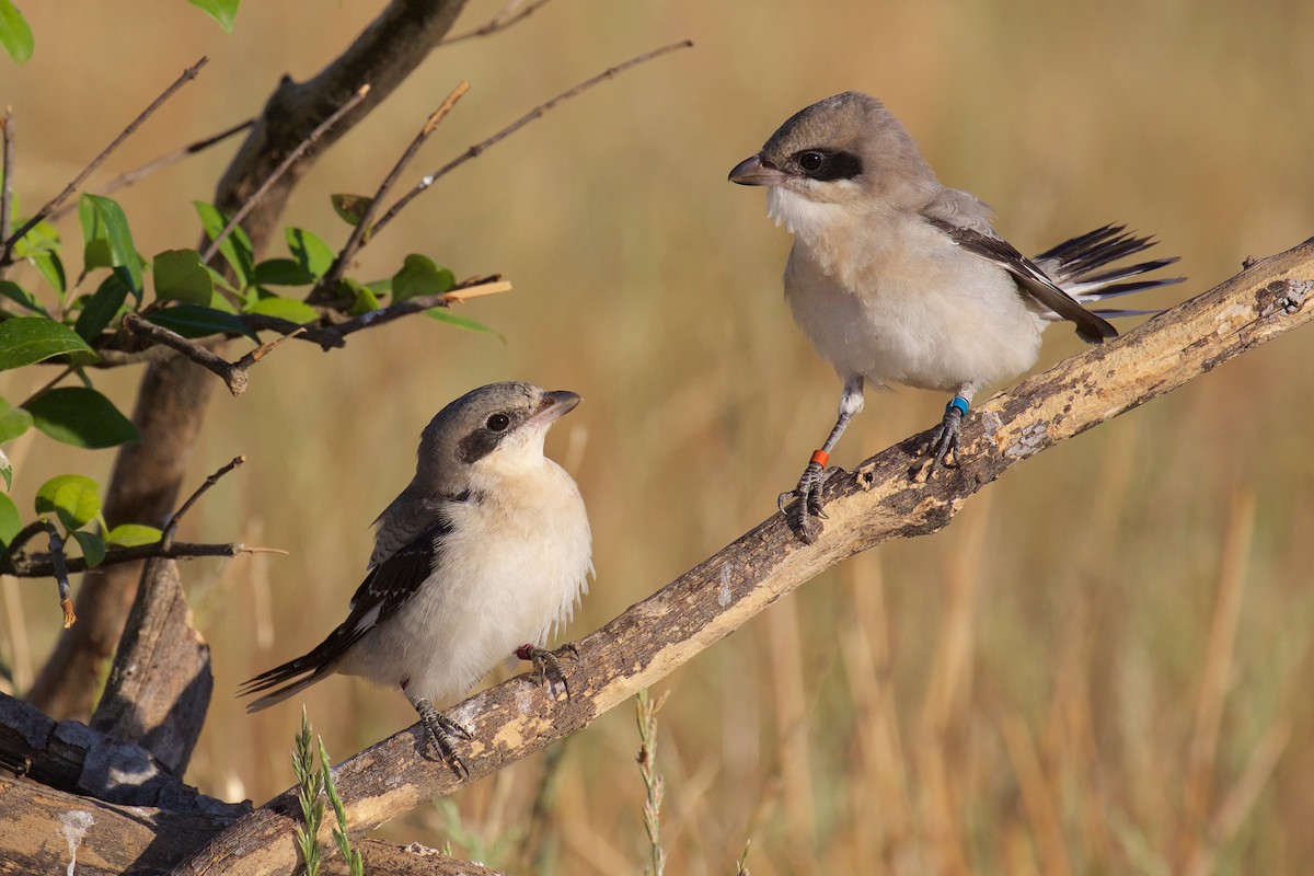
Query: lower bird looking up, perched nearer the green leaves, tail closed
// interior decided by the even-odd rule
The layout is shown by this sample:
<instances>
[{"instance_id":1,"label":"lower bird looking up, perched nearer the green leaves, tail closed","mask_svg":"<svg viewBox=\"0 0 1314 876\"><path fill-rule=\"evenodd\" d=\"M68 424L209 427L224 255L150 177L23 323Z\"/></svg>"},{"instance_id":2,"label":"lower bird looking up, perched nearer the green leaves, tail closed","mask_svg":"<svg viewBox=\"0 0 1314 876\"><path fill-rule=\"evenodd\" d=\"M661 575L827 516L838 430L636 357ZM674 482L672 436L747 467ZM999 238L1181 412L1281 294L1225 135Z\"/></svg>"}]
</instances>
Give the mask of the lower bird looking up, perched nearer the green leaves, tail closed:
<instances>
[{"instance_id":1,"label":"lower bird looking up, perched nearer the green leaves, tail closed","mask_svg":"<svg viewBox=\"0 0 1314 876\"><path fill-rule=\"evenodd\" d=\"M309 653L246 682L259 712L326 676L399 687L453 771L472 738L436 703L469 691L501 661L531 661L569 684L544 649L587 592L593 536L583 499L544 456L552 424L581 397L491 383L451 402L420 435L415 477L374 520L367 575L347 620ZM569 646L568 646L569 647Z\"/></svg>"}]
</instances>

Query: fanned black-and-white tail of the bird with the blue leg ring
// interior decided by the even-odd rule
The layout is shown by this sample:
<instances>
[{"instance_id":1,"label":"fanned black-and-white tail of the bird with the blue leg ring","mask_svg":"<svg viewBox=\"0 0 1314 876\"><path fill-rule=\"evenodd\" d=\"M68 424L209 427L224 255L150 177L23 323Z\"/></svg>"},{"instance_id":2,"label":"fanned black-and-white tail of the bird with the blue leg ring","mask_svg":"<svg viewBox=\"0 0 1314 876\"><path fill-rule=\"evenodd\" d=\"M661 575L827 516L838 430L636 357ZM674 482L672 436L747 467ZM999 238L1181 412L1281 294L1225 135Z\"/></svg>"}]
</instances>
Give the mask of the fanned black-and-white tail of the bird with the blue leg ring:
<instances>
[{"instance_id":1,"label":"fanned black-and-white tail of the bird with the blue leg ring","mask_svg":"<svg viewBox=\"0 0 1314 876\"><path fill-rule=\"evenodd\" d=\"M1035 256L1031 261L1055 285L1076 298L1091 313L1113 318L1159 313L1156 310L1091 307L1092 303L1100 303L1109 298L1171 286L1185 280L1185 277L1143 278L1144 274L1177 261L1179 259L1175 256L1121 268L1108 268L1114 261L1144 252L1156 243L1154 238L1138 238L1127 234L1126 230L1125 225L1106 225L1102 229L1064 240ZM1063 317L1050 314L1046 315L1046 319L1059 320Z\"/></svg>"}]
</instances>

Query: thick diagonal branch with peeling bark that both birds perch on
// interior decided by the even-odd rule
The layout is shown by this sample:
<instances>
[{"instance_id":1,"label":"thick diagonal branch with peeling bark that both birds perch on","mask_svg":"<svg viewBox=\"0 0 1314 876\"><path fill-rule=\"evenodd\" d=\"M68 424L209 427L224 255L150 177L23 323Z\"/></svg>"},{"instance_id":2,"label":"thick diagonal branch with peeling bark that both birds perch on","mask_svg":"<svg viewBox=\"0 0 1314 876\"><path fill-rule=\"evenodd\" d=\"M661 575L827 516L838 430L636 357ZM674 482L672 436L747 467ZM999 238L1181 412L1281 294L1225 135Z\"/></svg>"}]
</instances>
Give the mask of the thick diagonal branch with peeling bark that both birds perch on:
<instances>
[{"instance_id":1,"label":"thick diagonal branch with peeling bark that both birds perch on","mask_svg":"<svg viewBox=\"0 0 1314 876\"><path fill-rule=\"evenodd\" d=\"M828 481L828 519L815 544L802 544L775 514L577 642L578 662L565 661L569 701L549 701L532 675L522 675L452 709L451 716L474 733L461 753L468 777L422 756L420 725L340 764L335 781L353 833L581 730L841 559L890 538L946 527L974 493L1022 460L1309 322L1311 297L1314 240L995 395L967 419L962 466L947 475L929 482L909 477L922 468L915 456L918 437L871 457L851 474L837 473ZM285 792L175 872L289 873L298 820L296 797Z\"/></svg>"}]
</instances>

